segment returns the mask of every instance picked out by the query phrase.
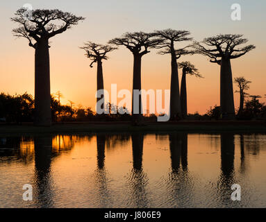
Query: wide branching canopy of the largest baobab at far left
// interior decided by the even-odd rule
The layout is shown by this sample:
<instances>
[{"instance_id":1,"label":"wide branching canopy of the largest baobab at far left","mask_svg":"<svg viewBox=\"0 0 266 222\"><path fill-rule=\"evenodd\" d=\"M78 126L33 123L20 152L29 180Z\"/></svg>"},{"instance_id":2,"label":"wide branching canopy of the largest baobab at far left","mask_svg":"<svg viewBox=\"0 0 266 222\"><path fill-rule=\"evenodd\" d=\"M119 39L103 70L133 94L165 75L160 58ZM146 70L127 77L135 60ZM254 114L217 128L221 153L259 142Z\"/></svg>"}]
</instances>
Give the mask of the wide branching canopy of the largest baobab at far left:
<instances>
[{"instance_id":1,"label":"wide branching canopy of the largest baobab at far left","mask_svg":"<svg viewBox=\"0 0 266 222\"><path fill-rule=\"evenodd\" d=\"M78 24L78 21L83 20L83 17L76 17L69 12L55 10L33 10L31 17L25 17L26 8L20 8L11 18L13 22L21 24L19 28L13 29L13 33L17 37L26 37L29 41L29 46L35 48L35 44L42 38L49 38L67 31L72 25ZM56 24L63 22L63 24Z\"/></svg>"}]
</instances>

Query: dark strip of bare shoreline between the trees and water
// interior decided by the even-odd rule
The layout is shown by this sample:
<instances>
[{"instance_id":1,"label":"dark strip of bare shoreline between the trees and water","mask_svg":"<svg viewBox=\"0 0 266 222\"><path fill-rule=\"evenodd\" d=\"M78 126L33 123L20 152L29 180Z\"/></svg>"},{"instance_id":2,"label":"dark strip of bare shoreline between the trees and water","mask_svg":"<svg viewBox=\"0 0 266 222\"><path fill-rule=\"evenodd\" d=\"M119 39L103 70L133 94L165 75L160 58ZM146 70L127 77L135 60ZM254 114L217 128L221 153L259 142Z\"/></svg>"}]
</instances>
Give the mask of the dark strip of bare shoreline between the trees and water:
<instances>
[{"instance_id":1,"label":"dark strip of bare shoreline between the trees and water","mask_svg":"<svg viewBox=\"0 0 266 222\"><path fill-rule=\"evenodd\" d=\"M0 125L0 135L42 133L163 133L186 131L188 133L219 133L234 131L239 133L266 133L265 121L176 121L163 123L145 123L145 126L132 126L129 122L79 122L53 123L52 126Z\"/></svg>"}]
</instances>

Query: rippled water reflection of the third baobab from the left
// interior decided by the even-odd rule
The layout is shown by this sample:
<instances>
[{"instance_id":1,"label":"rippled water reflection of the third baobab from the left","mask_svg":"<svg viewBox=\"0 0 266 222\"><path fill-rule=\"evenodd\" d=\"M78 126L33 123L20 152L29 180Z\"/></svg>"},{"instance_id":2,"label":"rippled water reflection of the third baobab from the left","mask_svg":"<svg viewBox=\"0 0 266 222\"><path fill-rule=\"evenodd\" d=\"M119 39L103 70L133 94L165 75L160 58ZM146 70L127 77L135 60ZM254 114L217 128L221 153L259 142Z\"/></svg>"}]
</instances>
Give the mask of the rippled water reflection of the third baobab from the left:
<instances>
[{"instance_id":1,"label":"rippled water reflection of the third baobab from the left","mask_svg":"<svg viewBox=\"0 0 266 222\"><path fill-rule=\"evenodd\" d=\"M133 207L149 207L146 187L148 184L147 174L142 170L142 155L144 135L142 133L133 133L132 152L133 169L128 177L128 186L131 189L130 203Z\"/></svg>"}]
</instances>

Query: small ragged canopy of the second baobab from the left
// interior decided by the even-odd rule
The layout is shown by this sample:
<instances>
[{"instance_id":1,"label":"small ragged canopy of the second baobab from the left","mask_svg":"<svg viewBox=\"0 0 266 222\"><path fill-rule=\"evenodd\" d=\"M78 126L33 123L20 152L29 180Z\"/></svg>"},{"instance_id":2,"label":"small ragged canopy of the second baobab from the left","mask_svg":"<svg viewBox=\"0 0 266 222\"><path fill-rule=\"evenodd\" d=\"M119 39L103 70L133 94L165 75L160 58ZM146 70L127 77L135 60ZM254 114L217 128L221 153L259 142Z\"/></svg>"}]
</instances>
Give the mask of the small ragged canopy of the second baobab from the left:
<instances>
[{"instance_id":1,"label":"small ragged canopy of the second baobab from the left","mask_svg":"<svg viewBox=\"0 0 266 222\"><path fill-rule=\"evenodd\" d=\"M108 60L108 57L106 56L107 53L110 51L113 51L117 49L117 47L110 46L108 44L96 44L94 42L86 42L85 46L81 47L81 49L85 50L85 56L90 58L92 60L92 63L90 64L90 67L92 67L94 62L100 61L100 60Z\"/></svg>"}]
</instances>

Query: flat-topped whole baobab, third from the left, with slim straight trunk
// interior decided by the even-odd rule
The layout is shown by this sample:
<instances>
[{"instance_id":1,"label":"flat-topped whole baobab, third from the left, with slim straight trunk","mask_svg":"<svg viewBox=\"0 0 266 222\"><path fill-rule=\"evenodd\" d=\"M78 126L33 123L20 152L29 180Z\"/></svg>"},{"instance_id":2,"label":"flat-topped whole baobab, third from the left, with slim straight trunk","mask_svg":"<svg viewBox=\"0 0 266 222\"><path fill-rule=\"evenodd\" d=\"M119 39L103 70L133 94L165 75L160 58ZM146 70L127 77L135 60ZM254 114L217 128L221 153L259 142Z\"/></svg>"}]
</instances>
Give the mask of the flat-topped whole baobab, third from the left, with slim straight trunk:
<instances>
[{"instance_id":1,"label":"flat-topped whole baobab, third from the left, with slim straight trunk","mask_svg":"<svg viewBox=\"0 0 266 222\"><path fill-rule=\"evenodd\" d=\"M149 53L149 48L152 48L160 43L160 40L155 37L154 33L125 33L122 37L114 38L109 41L110 44L117 46L126 46L127 49L133 53L133 99L132 99L132 116L135 124L142 122L142 96L139 93L136 95L134 92L140 92L141 88L141 60L142 56ZM138 96L138 98L137 98ZM134 104L134 101L138 103ZM135 107L138 105L138 108Z\"/></svg>"}]
</instances>

